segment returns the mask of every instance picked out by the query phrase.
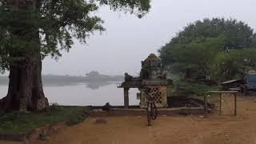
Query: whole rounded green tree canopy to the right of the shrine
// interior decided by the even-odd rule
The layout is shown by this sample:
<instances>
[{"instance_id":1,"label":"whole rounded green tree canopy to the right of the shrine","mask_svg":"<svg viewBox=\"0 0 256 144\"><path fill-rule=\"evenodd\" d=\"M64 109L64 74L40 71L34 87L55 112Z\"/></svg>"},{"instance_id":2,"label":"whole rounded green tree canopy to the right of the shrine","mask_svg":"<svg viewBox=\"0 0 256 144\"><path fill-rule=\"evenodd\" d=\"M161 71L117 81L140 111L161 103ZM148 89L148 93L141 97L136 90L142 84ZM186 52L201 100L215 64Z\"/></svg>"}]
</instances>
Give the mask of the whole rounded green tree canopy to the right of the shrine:
<instances>
[{"instance_id":1,"label":"whole rounded green tree canopy to the right of the shrine","mask_svg":"<svg viewBox=\"0 0 256 144\"><path fill-rule=\"evenodd\" d=\"M222 81L254 66L255 39L254 30L245 22L206 18L184 27L159 53L173 72L185 73L190 68Z\"/></svg>"}]
</instances>

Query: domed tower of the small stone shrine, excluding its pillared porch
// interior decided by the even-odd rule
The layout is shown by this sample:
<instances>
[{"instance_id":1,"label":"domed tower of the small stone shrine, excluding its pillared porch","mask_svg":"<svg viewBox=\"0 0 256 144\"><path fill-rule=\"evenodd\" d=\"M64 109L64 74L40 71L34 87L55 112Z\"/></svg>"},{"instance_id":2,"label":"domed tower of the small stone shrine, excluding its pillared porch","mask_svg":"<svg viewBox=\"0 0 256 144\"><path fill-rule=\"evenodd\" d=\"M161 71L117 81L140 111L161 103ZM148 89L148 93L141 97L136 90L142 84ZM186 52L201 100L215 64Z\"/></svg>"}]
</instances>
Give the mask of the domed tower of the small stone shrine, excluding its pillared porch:
<instances>
[{"instance_id":1,"label":"domed tower of the small stone shrine, excluding its pillared porch","mask_svg":"<svg viewBox=\"0 0 256 144\"><path fill-rule=\"evenodd\" d=\"M148 58L142 61L140 78L142 79L142 86L138 89L140 91L140 107L146 107L147 94L149 93L154 95L156 106L167 107L167 81L161 58L155 54L150 54Z\"/></svg>"}]
</instances>

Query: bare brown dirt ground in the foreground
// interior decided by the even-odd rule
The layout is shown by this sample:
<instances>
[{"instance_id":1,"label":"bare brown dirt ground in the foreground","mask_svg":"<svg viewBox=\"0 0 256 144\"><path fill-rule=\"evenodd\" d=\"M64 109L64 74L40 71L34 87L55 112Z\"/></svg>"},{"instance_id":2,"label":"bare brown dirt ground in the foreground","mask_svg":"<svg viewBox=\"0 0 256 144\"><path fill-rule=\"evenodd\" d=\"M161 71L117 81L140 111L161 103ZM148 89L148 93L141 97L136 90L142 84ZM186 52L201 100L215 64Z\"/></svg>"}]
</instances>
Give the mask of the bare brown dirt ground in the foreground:
<instances>
[{"instance_id":1,"label":"bare brown dirt ground in the foreground","mask_svg":"<svg viewBox=\"0 0 256 144\"><path fill-rule=\"evenodd\" d=\"M87 118L38 144L256 144L256 97L238 98L238 116L228 110L208 118L159 117L146 126L146 116L108 117L106 124ZM0 142L17 144L17 142Z\"/></svg>"}]
</instances>

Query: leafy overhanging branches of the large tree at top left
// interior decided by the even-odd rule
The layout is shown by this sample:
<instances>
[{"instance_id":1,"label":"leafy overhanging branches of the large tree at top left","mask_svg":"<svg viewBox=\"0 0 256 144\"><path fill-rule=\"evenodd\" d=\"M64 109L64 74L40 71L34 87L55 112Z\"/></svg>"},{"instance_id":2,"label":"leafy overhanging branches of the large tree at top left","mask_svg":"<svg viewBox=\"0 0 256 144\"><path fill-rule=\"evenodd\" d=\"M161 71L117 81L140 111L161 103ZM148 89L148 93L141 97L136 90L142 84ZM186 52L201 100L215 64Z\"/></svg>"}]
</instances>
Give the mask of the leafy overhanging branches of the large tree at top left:
<instances>
[{"instance_id":1,"label":"leafy overhanging branches of the large tree at top left","mask_svg":"<svg viewBox=\"0 0 256 144\"><path fill-rule=\"evenodd\" d=\"M150 0L0 0L0 72L35 52L58 58L62 50L70 50L73 38L86 43L95 31L105 30L102 19L93 14L99 5L141 18Z\"/></svg>"}]
</instances>

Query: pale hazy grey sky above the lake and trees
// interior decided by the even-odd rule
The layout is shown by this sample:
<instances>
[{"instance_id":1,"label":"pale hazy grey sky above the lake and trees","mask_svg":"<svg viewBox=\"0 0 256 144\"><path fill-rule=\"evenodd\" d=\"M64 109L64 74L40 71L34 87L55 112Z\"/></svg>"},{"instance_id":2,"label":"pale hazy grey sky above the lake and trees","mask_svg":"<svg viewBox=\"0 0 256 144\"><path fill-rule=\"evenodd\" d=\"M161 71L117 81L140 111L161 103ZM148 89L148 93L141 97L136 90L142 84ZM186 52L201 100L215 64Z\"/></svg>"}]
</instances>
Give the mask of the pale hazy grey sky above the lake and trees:
<instances>
[{"instance_id":1,"label":"pale hazy grey sky above the lake and trees","mask_svg":"<svg viewBox=\"0 0 256 144\"><path fill-rule=\"evenodd\" d=\"M237 18L256 26L255 0L152 0L142 19L100 7L106 31L94 34L87 45L78 42L58 62L46 58L43 74L138 74L141 61L170 41L182 27L202 18Z\"/></svg>"}]
</instances>

